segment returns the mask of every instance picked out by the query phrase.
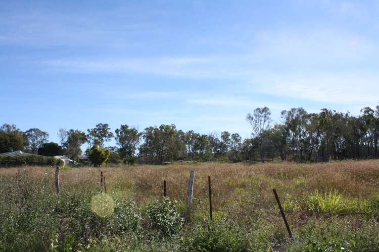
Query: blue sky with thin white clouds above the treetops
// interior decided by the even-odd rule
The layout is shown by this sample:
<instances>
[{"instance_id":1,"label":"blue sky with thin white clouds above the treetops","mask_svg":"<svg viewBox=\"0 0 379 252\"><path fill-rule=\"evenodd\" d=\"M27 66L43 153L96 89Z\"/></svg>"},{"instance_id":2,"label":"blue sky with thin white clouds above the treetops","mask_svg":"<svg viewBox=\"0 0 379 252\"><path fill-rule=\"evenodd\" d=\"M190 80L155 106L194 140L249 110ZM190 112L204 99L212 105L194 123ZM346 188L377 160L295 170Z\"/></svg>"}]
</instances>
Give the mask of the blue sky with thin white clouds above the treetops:
<instances>
[{"instance_id":1,"label":"blue sky with thin white clouds above the treetops","mask_svg":"<svg viewBox=\"0 0 379 252\"><path fill-rule=\"evenodd\" d=\"M1 123L245 138L258 106L379 102L377 1L79 2L0 3Z\"/></svg>"}]
</instances>

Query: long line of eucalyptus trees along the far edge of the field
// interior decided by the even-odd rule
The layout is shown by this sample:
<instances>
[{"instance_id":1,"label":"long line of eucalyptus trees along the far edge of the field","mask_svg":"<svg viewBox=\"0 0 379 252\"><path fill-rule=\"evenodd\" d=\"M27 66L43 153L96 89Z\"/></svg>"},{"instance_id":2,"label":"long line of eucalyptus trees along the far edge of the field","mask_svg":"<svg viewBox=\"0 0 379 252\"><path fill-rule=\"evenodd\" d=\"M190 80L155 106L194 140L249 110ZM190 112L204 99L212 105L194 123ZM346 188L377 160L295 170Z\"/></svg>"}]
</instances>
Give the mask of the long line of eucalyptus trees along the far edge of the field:
<instances>
[{"instance_id":1,"label":"long line of eucalyptus trees along the far edge of the field","mask_svg":"<svg viewBox=\"0 0 379 252\"><path fill-rule=\"evenodd\" d=\"M139 131L127 124L114 132L99 123L86 132L59 130L60 143L48 142L49 134L39 129L22 132L13 124L0 128L0 153L23 150L44 156L66 155L76 160L87 144L86 154L104 162L164 163L177 160L261 161L275 158L298 162L327 162L344 159L379 158L379 105L364 107L359 116L323 108L308 113L303 108L281 111L281 122L272 124L267 107L247 114L252 137L224 131L218 136L178 130L162 124ZM115 139L116 146L106 147Z\"/></svg>"}]
</instances>

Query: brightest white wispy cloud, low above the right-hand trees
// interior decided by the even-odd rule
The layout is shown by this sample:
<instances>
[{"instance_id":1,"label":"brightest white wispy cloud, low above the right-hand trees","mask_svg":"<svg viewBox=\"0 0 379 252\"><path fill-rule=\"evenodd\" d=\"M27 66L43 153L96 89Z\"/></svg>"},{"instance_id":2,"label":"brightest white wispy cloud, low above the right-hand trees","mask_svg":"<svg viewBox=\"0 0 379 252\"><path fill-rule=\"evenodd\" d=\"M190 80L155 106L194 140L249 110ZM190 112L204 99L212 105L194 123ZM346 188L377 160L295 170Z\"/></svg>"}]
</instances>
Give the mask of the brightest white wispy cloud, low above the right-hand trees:
<instances>
[{"instance_id":1,"label":"brightest white wispy cloud, low above the right-hand trees","mask_svg":"<svg viewBox=\"0 0 379 252\"><path fill-rule=\"evenodd\" d=\"M275 96L344 104L379 102L379 79L361 73L272 75L259 82L265 84L253 84L250 88Z\"/></svg>"}]
</instances>

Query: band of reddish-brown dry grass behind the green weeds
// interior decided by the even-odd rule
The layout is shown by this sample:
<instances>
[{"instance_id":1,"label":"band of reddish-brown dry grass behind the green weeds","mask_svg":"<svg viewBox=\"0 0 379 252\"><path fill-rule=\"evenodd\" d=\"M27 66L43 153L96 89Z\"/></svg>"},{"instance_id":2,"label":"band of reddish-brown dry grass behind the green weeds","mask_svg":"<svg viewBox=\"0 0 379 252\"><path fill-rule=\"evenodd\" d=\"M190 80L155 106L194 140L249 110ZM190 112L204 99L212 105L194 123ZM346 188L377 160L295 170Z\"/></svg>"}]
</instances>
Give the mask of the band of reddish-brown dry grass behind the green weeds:
<instances>
[{"instance_id":1,"label":"band of reddish-brown dry grass behind the green weeds","mask_svg":"<svg viewBox=\"0 0 379 252\"><path fill-rule=\"evenodd\" d=\"M163 180L171 199L185 202L190 170L195 170L194 197L199 209L208 209L207 178L212 178L214 210L236 212L269 209L275 204L272 188L280 198L300 199L309 192L337 190L346 197L365 199L379 192L379 161L344 161L316 164L297 163L194 163L167 166L83 167L61 170L61 190L85 190L99 186L100 170L107 191L115 197L132 198L144 205L163 194ZM15 176L18 168L1 169L0 176ZM21 175L53 182L54 169L24 167ZM54 192L54 187L50 188Z\"/></svg>"}]
</instances>

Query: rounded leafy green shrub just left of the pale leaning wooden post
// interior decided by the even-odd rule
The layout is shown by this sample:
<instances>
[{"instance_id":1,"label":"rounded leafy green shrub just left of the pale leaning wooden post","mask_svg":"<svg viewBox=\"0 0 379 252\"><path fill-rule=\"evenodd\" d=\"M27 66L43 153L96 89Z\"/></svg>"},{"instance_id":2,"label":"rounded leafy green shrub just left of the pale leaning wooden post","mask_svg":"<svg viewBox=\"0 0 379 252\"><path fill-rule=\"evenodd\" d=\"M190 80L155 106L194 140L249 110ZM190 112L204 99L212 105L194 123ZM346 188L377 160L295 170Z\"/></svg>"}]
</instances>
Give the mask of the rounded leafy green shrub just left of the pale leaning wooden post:
<instances>
[{"instance_id":1,"label":"rounded leafy green shrub just left of the pale leaning wooden post","mask_svg":"<svg viewBox=\"0 0 379 252\"><path fill-rule=\"evenodd\" d=\"M176 201L172 203L168 197L150 204L147 209L147 216L151 227L163 235L177 234L184 219L180 216L176 204Z\"/></svg>"}]
</instances>

